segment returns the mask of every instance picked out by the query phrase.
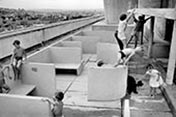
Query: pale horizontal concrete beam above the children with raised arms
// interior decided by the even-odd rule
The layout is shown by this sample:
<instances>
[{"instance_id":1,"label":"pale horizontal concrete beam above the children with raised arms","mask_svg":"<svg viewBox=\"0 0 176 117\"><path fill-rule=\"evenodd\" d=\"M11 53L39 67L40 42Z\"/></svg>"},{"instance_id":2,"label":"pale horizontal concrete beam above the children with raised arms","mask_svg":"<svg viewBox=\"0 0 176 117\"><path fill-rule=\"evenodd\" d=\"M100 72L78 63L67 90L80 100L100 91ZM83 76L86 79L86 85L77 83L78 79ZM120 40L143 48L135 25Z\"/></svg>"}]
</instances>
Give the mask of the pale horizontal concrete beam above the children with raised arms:
<instances>
[{"instance_id":1,"label":"pale horizontal concrete beam above the children with raised arms","mask_svg":"<svg viewBox=\"0 0 176 117\"><path fill-rule=\"evenodd\" d=\"M139 8L134 13L176 20L176 12L173 8Z\"/></svg>"}]
</instances>

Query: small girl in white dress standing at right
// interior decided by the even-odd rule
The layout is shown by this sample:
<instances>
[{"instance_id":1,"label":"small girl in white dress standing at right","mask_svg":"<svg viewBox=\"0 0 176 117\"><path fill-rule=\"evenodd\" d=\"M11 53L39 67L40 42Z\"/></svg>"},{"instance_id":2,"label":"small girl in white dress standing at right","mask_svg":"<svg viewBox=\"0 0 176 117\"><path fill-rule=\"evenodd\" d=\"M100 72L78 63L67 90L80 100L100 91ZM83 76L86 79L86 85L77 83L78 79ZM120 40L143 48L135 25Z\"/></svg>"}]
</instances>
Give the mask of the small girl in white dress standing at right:
<instances>
[{"instance_id":1,"label":"small girl in white dress standing at right","mask_svg":"<svg viewBox=\"0 0 176 117\"><path fill-rule=\"evenodd\" d=\"M150 85L150 96L156 96L156 89L159 88L161 85L164 85L163 79L161 77L161 73L153 69L152 67L146 72L146 77L149 77L149 85Z\"/></svg>"}]
</instances>

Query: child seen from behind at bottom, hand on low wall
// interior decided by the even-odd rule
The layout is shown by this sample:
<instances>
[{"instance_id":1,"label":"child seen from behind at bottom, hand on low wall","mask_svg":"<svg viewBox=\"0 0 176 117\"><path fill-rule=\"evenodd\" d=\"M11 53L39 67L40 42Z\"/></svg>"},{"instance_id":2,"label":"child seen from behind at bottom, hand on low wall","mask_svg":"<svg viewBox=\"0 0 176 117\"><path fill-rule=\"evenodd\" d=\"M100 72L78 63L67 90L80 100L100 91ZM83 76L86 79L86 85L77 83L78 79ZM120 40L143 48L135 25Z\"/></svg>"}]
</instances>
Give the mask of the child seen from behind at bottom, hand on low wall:
<instances>
[{"instance_id":1,"label":"child seen from behind at bottom, hand on low wall","mask_svg":"<svg viewBox=\"0 0 176 117\"><path fill-rule=\"evenodd\" d=\"M52 106L52 113L54 117L63 117L62 111L63 111L63 100L64 93L62 92L56 92L55 96L53 97L53 100L50 99L42 99L43 101L47 101Z\"/></svg>"}]
</instances>

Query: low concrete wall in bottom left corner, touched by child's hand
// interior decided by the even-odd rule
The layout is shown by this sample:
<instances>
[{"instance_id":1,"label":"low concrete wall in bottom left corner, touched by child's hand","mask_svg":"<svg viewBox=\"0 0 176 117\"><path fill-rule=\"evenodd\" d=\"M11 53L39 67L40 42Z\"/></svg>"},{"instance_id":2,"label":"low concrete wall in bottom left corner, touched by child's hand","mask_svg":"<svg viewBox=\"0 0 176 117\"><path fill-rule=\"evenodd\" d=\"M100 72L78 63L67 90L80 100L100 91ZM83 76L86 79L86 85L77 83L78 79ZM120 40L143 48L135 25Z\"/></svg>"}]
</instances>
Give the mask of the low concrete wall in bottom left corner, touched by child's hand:
<instances>
[{"instance_id":1,"label":"low concrete wall in bottom left corner, touched by child's hand","mask_svg":"<svg viewBox=\"0 0 176 117\"><path fill-rule=\"evenodd\" d=\"M50 105L39 97L0 94L1 117L53 117Z\"/></svg>"}]
</instances>

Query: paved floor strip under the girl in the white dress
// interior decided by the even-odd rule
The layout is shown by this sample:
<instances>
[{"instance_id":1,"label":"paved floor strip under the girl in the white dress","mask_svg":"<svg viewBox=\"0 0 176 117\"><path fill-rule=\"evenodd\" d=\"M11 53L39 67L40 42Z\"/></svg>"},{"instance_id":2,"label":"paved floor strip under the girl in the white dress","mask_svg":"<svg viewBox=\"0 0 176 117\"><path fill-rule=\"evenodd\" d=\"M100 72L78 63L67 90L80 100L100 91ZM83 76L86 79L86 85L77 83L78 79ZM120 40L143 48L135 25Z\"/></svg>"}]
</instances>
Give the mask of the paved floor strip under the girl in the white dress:
<instances>
[{"instance_id":1,"label":"paved floor strip under the girl in the white dress","mask_svg":"<svg viewBox=\"0 0 176 117\"><path fill-rule=\"evenodd\" d=\"M168 104L158 89L157 96L150 96L149 79L143 75L131 74L136 80L142 80L144 85L137 88L138 94L132 93L130 98L131 117L173 117Z\"/></svg>"}]
</instances>

